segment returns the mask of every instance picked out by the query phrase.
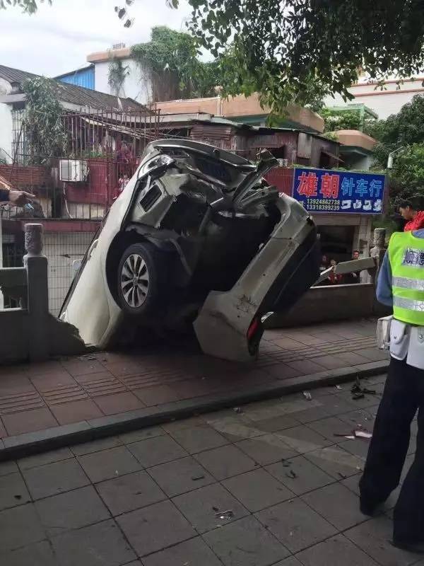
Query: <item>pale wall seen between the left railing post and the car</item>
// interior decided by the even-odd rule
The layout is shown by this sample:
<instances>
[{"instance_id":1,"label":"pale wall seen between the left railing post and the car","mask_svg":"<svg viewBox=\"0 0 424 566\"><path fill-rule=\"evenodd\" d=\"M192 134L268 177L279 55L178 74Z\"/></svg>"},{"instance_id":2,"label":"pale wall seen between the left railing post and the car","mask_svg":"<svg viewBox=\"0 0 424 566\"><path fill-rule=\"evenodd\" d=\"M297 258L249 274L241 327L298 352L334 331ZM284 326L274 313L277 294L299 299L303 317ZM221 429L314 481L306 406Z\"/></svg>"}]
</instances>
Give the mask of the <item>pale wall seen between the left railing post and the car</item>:
<instances>
[{"instance_id":1,"label":"pale wall seen between the left railing post and the car","mask_svg":"<svg viewBox=\"0 0 424 566\"><path fill-rule=\"evenodd\" d=\"M49 311L57 316L73 279L74 260L83 258L93 239L91 232L47 232L43 253L49 261Z\"/></svg>"}]
</instances>

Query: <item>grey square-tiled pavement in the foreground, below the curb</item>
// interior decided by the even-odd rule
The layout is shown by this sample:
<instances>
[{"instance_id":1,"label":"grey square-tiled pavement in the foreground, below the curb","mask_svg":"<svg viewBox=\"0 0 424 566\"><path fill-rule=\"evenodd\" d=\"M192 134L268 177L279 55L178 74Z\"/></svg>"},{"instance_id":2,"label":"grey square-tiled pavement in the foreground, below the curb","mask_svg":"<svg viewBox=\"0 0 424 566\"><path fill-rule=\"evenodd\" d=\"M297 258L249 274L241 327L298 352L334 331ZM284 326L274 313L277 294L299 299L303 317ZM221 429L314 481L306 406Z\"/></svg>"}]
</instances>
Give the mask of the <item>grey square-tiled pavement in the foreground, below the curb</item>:
<instances>
[{"instance_id":1,"label":"grey square-tiled pavement in the foreground, below the curb","mask_svg":"<svg viewBox=\"0 0 424 566\"><path fill-rule=\"evenodd\" d=\"M389 542L399 490L359 512L368 441L334 437L372 430L384 376L367 384L0 463L0 564L422 566Z\"/></svg>"}]
</instances>

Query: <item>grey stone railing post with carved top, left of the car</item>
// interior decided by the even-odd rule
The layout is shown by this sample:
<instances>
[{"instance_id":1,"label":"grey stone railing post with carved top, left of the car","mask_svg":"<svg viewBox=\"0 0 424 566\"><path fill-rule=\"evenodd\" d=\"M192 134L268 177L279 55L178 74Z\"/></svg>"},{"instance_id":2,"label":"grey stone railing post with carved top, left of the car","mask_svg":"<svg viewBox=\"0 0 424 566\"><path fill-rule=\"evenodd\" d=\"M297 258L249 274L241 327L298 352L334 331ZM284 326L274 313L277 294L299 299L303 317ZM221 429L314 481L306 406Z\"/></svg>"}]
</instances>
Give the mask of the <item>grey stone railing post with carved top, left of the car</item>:
<instances>
[{"instance_id":1,"label":"grey stone railing post with carved top, left of the car","mask_svg":"<svg viewBox=\"0 0 424 566\"><path fill-rule=\"evenodd\" d=\"M49 356L49 291L47 258L42 255L42 224L25 224L23 265L28 281L28 323L30 361Z\"/></svg>"}]
</instances>

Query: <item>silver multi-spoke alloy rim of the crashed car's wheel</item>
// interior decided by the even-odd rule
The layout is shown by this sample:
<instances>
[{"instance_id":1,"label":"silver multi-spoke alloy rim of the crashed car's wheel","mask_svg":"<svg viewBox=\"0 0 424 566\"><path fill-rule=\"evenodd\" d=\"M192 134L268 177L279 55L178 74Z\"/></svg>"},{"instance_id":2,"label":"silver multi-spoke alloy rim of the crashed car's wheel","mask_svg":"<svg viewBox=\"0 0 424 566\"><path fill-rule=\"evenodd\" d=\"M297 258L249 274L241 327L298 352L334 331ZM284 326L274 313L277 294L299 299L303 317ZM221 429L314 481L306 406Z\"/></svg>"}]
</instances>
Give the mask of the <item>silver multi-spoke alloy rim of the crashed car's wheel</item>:
<instances>
[{"instance_id":1,"label":"silver multi-spoke alloy rim of the crashed car's wheel","mask_svg":"<svg viewBox=\"0 0 424 566\"><path fill-rule=\"evenodd\" d=\"M139 308L148 295L150 276L141 255L132 253L126 258L121 270L121 291L126 304Z\"/></svg>"}]
</instances>

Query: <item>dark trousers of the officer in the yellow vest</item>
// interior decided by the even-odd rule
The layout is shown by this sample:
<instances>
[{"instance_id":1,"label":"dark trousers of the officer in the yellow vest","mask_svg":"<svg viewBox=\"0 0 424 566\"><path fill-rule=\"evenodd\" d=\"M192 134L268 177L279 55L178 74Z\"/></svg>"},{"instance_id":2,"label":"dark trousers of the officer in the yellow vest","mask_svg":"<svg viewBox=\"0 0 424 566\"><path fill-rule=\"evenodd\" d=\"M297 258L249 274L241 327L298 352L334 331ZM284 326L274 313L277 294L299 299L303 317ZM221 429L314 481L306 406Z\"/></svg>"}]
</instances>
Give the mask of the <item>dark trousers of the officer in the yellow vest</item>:
<instances>
[{"instance_id":1,"label":"dark trousers of the officer in the yellow vest","mask_svg":"<svg viewBox=\"0 0 424 566\"><path fill-rule=\"evenodd\" d=\"M417 410L416 457L394 509L394 538L405 542L424 542L424 370L392 358L360 480L363 502L380 504L399 485Z\"/></svg>"}]
</instances>

